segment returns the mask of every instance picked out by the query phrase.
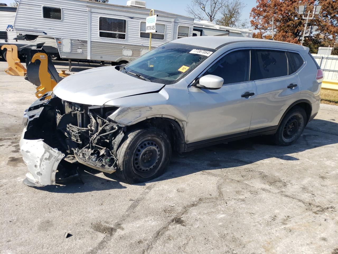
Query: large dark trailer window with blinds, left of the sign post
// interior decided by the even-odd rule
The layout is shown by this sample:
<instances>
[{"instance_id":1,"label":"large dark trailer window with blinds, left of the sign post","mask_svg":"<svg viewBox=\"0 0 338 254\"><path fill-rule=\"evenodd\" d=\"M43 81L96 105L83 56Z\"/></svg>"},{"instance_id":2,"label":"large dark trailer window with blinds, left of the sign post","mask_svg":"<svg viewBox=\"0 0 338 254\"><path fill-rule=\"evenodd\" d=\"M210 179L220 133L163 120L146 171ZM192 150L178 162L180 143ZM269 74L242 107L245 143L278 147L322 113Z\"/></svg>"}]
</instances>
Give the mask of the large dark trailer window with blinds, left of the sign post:
<instances>
[{"instance_id":1,"label":"large dark trailer window with blinds, left of the sign post","mask_svg":"<svg viewBox=\"0 0 338 254\"><path fill-rule=\"evenodd\" d=\"M122 39L126 38L126 23L124 19L111 19L100 17L100 37Z\"/></svg>"}]
</instances>

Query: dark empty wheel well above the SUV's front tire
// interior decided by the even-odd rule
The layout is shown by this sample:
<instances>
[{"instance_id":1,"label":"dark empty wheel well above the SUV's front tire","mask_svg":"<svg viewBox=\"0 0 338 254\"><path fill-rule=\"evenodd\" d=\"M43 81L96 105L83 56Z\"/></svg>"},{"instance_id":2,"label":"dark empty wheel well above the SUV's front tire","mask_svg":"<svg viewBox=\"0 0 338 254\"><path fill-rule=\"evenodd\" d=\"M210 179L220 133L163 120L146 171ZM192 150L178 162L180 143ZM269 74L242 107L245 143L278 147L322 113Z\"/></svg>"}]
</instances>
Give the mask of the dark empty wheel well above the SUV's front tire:
<instances>
[{"instance_id":1,"label":"dark empty wheel well above the SUV's front tire","mask_svg":"<svg viewBox=\"0 0 338 254\"><path fill-rule=\"evenodd\" d=\"M174 151L182 152L184 150L185 139L182 127L180 127L178 122L170 118L154 117L129 126L128 128L149 126L156 127L164 131L164 133L167 134Z\"/></svg>"}]
</instances>

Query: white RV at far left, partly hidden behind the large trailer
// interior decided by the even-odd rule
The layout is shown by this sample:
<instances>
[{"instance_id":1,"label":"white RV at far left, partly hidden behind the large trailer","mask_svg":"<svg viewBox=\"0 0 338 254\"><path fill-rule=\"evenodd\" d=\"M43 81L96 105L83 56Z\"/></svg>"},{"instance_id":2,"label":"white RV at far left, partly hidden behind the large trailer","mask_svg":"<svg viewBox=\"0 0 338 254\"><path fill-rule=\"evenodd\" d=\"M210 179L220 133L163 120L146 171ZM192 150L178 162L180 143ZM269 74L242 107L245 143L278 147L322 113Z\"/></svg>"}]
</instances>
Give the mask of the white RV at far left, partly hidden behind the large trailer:
<instances>
[{"instance_id":1,"label":"white RV at far left, partly hidden behind the large trailer","mask_svg":"<svg viewBox=\"0 0 338 254\"><path fill-rule=\"evenodd\" d=\"M18 51L25 46L36 46L39 43L45 43L44 49L53 60L58 59L58 51L54 38L41 36L38 38L28 38L31 40L19 40L14 29L14 19L17 12L17 7L0 6L0 48L5 44L17 45ZM5 59L6 51L0 49L0 55ZM20 52L19 52L20 57Z\"/></svg>"}]
</instances>

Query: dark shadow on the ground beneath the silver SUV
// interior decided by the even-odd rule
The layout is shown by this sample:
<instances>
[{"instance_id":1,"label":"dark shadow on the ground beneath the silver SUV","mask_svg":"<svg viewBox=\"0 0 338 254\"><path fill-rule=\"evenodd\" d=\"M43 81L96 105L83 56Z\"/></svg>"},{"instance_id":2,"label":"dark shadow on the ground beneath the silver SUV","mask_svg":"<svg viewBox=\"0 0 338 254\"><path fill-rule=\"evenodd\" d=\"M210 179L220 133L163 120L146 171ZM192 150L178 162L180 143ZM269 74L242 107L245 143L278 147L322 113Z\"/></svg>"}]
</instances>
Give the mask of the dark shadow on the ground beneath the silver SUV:
<instances>
[{"instance_id":1,"label":"dark shadow on the ground beneath the silver SUV","mask_svg":"<svg viewBox=\"0 0 338 254\"><path fill-rule=\"evenodd\" d=\"M297 161L299 159L294 153L337 144L338 134L334 130L338 130L338 123L315 119L309 123L298 141L287 147L275 145L271 142L270 136L258 136L201 148L188 153L174 153L165 174L147 183L165 181L206 170L224 169L226 172L230 168L249 165L273 157L285 161ZM289 154L293 154L293 156ZM80 174L84 184L70 183L64 186L46 186L41 189L49 192L76 193L127 188L125 184L121 185L116 179L116 174L104 173L107 178L111 179L107 180L96 176L99 173L101 172L83 166L80 169ZM144 186L145 184L136 185Z\"/></svg>"}]
</instances>

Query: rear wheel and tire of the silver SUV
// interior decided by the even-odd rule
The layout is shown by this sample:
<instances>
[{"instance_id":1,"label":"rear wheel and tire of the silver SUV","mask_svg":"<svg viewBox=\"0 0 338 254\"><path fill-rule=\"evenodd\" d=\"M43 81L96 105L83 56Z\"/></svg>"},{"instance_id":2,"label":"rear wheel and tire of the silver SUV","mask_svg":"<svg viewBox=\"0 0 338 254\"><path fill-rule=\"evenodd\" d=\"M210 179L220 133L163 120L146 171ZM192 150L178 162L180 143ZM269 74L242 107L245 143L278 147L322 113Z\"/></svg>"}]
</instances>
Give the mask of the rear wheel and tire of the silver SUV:
<instances>
[{"instance_id":1,"label":"rear wheel and tire of the silver SUV","mask_svg":"<svg viewBox=\"0 0 338 254\"><path fill-rule=\"evenodd\" d=\"M283 118L273 141L280 146L289 146L296 142L307 122L306 112L301 107L292 108Z\"/></svg>"}]
</instances>

